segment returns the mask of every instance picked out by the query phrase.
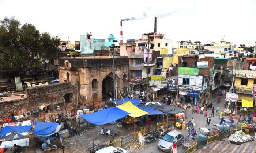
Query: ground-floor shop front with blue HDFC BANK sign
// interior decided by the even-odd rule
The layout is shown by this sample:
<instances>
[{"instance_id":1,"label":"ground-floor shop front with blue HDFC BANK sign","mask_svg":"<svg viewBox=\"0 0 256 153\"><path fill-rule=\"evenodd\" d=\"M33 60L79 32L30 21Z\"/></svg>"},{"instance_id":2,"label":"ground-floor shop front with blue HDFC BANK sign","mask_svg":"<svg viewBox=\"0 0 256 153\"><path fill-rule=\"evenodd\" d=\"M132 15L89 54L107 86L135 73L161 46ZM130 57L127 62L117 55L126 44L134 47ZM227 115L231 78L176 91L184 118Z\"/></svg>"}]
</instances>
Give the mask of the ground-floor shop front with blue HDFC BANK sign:
<instances>
[{"instance_id":1,"label":"ground-floor shop front with blue HDFC BANK sign","mask_svg":"<svg viewBox=\"0 0 256 153\"><path fill-rule=\"evenodd\" d=\"M190 103L191 105L197 105L198 98L200 97L200 91L180 90L179 97L182 99L183 104Z\"/></svg>"}]
</instances>

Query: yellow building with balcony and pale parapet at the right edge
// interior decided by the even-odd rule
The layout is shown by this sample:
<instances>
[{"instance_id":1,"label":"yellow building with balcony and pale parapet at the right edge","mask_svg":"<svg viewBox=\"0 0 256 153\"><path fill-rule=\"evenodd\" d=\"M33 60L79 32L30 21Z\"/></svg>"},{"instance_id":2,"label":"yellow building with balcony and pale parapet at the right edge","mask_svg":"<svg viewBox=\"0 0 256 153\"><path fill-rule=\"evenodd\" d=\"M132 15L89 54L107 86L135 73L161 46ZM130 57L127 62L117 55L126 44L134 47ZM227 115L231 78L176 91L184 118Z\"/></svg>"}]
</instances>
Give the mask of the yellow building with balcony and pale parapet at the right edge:
<instances>
[{"instance_id":1,"label":"yellow building with balcony and pale parapet at the right edge","mask_svg":"<svg viewBox=\"0 0 256 153\"><path fill-rule=\"evenodd\" d=\"M256 96L256 71L233 70L233 75L235 76L234 91L238 94L240 107L246 107L248 103L253 107L253 96Z\"/></svg>"}]
</instances>

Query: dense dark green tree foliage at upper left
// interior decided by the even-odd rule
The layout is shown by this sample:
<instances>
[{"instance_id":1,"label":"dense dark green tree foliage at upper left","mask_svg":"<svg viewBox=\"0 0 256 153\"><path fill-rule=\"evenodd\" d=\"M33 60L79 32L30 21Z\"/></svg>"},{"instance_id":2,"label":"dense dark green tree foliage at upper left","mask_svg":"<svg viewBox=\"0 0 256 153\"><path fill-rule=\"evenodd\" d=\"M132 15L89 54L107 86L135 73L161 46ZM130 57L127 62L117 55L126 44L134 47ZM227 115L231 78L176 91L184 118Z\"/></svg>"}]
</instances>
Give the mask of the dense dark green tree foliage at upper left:
<instances>
[{"instance_id":1,"label":"dense dark green tree foliage at upper left","mask_svg":"<svg viewBox=\"0 0 256 153\"><path fill-rule=\"evenodd\" d=\"M53 60L60 44L57 36L40 32L37 28L14 17L0 21L0 70L18 76L26 65L37 67L41 59Z\"/></svg>"}]
</instances>

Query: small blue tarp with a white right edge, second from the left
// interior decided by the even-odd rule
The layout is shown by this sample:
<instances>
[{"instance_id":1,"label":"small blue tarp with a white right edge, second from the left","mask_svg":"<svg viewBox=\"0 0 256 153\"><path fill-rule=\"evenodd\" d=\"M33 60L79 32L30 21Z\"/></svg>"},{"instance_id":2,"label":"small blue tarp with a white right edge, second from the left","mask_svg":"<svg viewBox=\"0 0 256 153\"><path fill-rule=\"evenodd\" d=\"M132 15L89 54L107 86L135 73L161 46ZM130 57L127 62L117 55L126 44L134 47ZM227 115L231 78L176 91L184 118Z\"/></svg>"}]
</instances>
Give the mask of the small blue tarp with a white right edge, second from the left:
<instances>
[{"instance_id":1,"label":"small blue tarp with a white right edge, second from the left","mask_svg":"<svg viewBox=\"0 0 256 153\"><path fill-rule=\"evenodd\" d=\"M35 129L33 134L38 136L47 137L54 133L57 133L61 128L60 123L51 123L51 122L35 122Z\"/></svg>"}]
</instances>

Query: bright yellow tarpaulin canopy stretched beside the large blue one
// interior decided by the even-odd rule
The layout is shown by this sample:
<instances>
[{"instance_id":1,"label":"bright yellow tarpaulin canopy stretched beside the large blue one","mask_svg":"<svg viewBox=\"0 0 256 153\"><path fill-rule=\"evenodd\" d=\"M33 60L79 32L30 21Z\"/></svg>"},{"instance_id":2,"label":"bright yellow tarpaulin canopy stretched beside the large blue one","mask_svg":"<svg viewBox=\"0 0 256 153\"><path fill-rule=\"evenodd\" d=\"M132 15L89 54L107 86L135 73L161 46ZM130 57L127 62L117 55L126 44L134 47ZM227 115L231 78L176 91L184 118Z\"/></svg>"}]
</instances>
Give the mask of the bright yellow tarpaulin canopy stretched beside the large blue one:
<instances>
[{"instance_id":1,"label":"bright yellow tarpaulin canopy stretched beside the large blue one","mask_svg":"<svg viewBox=\"0 0 256 153\"><path fill-rule=\"evenodd\" d=\"M139 109L138 107L134 106L131 103L131 101L125 102L122 105L119 105L117 107L123 111L130 113L129 116L131 116L131 117L140 117L140 116L149 114L148 112L143 111L143 110Z\"/></svg>"}]
</instances>

